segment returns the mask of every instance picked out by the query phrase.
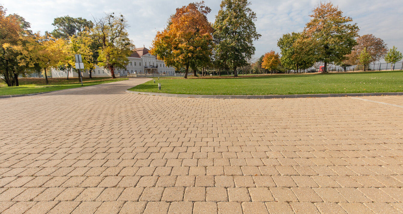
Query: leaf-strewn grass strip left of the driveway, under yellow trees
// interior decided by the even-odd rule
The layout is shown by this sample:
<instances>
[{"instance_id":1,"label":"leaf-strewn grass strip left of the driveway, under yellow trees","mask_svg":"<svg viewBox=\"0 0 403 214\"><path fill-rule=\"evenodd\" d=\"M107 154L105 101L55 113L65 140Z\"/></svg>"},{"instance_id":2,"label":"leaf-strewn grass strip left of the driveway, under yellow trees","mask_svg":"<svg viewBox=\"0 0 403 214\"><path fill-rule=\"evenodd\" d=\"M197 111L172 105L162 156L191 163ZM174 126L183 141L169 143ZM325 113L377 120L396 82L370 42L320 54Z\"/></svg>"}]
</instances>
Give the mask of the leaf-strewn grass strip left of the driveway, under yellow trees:
<instances>
[{"instance_id":1,"label":"leaf-strewn grass strip left of the driveway, under yellow trees","mask_svg":"<svg viewBox=\"0 0 403 214\"><path fill-rule=\"evenodd\" d=\"M111 77L94 77L83 78L84 86L93 86L108 82L116 82L126 80L127 78L112 79ZM0 96L3 95L16 95L16 94L34 94L40 92L50 92L69 88L82 87L79 78L70 77L66 78L48 78L49 84L45 84L44 78L19 78L20 86L7 87L4 82L0 83Z\"/></svg>"}]
</instances>

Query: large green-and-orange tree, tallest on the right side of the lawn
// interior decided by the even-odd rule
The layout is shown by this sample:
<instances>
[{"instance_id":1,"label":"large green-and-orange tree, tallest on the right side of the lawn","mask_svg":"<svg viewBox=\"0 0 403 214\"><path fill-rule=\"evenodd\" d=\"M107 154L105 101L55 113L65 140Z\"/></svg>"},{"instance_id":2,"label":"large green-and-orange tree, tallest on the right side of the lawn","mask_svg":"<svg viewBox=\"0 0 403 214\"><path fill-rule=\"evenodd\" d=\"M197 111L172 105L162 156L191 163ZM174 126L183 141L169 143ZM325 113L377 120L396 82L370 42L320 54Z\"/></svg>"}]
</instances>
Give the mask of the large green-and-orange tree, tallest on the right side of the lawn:
<instances>
[{"instance_id":1,"label":"large green-and-orange tree, tallest on the right side of the lawn","mask_svg":"<svg viewBox=\"0 0 403 214\"><path fill-rule=\"evenodd\" d=\"M312 19L305 26L303 39L307 44L315 47L316 61L324 62L324 72L327 72L327 64L343 61L345 55L357 42L357 24L349 24L353 19L343 16L338 6L331 2L320 3L310 15Z\"/></svg>"}]
</instances>

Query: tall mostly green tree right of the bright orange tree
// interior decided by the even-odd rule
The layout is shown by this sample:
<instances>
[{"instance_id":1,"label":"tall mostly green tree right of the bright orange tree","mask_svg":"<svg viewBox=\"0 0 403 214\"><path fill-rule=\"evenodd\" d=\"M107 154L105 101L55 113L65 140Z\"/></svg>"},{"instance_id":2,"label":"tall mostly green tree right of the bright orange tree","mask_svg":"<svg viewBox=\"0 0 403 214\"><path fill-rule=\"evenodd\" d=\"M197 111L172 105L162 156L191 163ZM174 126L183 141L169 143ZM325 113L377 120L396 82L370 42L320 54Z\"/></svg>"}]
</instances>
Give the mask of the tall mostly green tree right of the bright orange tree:
<instances>
[{"instance_id":1,"label":"tall mostly green tree right of the bright orange tree","mask_svg":"<svg viewBox=\"0 0 403 214\"><path fill-rule=\"evenodd\" d=\"M247 65L256 48L253 41L262 35L256 32L256 13L248 0L222 0L214 22L214 37L219 37L216 52L237 77L237 67Z\"/></svg>"}]
</instances>

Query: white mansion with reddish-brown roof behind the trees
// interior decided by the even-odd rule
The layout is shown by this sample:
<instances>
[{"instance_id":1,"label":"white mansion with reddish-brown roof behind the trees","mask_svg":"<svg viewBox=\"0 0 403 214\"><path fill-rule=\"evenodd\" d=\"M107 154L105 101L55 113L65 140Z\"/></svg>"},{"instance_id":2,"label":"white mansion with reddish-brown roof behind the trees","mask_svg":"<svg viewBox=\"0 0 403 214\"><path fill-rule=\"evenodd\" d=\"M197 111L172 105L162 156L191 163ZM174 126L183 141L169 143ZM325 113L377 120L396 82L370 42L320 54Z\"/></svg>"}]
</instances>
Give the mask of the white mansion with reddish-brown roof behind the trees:
<instances>
[{"instance_id":1,"label":"white mansion with reddish-brown roof behind the trees","mask_svg":"<svg viewBox=\"0 0 403 214\"><path fill-rule=\"evenodd\" d=\"M127 76L129 73L164 73L168 75L174 75L174 67L167 67L164 61L158 60L156 56L148 53L147 48L136 48L129 59L129 63L126 65L126 69L116 69L115 75ZM108 69L104 67L96 66L95 70L91 71L93 77L110 77L112 74ZM88 77L89 72L83 72L83 77ZM52 77L67 77L67 71L59 71L52 69ZM78 73L70 71L69 77L78 77Z\"/></svg>"}]
</instances>

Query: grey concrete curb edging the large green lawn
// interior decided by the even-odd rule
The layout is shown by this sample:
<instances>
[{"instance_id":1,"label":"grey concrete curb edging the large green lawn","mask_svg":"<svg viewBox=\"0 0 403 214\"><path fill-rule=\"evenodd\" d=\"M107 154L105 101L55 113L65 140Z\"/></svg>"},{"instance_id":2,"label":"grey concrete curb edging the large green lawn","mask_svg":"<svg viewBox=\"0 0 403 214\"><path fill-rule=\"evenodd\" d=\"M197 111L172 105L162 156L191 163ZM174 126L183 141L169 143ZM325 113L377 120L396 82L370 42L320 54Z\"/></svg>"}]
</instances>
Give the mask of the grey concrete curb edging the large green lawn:
<instances>
[{"instance_id":1,"label":"grey concrete curb edging the large green lawn","mask_svg":"<svg viewBox=\"0 0 403 214\"><path fill-rule=\"evenodd\" d=\"M130 94L142 94L164 97L183 98L218 98L218 99L273 99L273 98L320 98L320 97L363 97L363 96L385 96L403 95L403 92L387 93L354 93L354 94L290 94L290 95L199 95L199 94L164 94L152 92L133 92L126 90Z\"/></svg>"}]
</instances>

